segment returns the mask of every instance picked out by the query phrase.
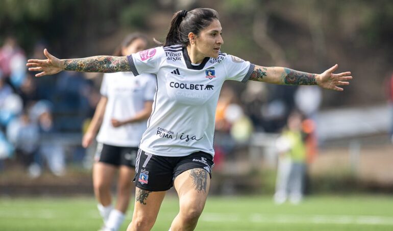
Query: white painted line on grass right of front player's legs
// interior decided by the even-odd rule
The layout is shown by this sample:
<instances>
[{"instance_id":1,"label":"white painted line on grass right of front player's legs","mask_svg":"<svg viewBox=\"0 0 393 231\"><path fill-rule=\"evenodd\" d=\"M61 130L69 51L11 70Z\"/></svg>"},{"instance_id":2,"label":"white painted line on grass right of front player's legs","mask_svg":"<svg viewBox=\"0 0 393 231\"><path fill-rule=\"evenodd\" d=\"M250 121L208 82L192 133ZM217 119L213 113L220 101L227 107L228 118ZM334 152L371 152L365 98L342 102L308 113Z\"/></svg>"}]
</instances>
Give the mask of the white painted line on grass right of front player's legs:
<instances>
[{"instance_id":1,"label":"white painted line on grass right of front player's legs","mask_svg":"<svg viewBox=\"0 0 393 231\"><path fill-rule=\"evenodd\" d=\"M350 216L350 215L270 215L202 213L201 219L207 222L239 222L249 221L255 223L314 223L314 224L369 224L393 225L393 217L384 216Z\"/></svg>"}]
</instances>

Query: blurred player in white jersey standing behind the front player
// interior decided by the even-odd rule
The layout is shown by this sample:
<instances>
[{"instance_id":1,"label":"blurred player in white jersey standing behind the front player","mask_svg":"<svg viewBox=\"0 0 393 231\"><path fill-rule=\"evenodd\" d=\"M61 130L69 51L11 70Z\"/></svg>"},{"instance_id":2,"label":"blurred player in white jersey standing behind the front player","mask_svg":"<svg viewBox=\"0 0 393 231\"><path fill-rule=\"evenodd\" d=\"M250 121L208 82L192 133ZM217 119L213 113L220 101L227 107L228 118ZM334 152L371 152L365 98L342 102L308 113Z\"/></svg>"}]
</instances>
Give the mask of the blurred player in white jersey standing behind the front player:
<instances>
[{"instance_id":1,"label":"blurred player in white jersey standing behind the front player","mask_svg":"<svg viewBox=\"0 0 393 231\"><path fill-rule=\"evenodd\" d=\"M114 55L127 56L146 49L147 45L145 35L130 34ZM97 207L104 220L102 230L118 230L125 218L135 176L138 145L152 113L155 92L153 74L144 74L142 78L135 78L132 72L104 74L102 96L82 140L82 146L88 147L100 129L93 165L93 185L99 201ZM117 201L113 208L111 185L117 170Z\"/></svg>"}]
</instances>

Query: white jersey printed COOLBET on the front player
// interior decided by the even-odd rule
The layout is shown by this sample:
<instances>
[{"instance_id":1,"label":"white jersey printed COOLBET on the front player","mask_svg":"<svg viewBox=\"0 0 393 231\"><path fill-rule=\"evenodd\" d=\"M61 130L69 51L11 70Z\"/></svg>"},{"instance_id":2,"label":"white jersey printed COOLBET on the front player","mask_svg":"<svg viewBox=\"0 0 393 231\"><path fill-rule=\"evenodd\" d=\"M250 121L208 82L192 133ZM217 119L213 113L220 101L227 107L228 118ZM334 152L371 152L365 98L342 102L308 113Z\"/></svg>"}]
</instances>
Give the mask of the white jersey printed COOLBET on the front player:
<instances>
[{"instance_id":1,"label":"white jersey printed COOLBET on the front player","mask_svg":"<svg viewBox=\"0 0 393 231\"><path fill-rule=\"evenodd\" d=\"M153 113L140 148L158 156L180 157L195 151L214 156L214 118L226 80L247 82L254 65L219 53L194 66L180 45L156 47L128 56L134 75L157 75Z\"/></svg>"}]
</instances>

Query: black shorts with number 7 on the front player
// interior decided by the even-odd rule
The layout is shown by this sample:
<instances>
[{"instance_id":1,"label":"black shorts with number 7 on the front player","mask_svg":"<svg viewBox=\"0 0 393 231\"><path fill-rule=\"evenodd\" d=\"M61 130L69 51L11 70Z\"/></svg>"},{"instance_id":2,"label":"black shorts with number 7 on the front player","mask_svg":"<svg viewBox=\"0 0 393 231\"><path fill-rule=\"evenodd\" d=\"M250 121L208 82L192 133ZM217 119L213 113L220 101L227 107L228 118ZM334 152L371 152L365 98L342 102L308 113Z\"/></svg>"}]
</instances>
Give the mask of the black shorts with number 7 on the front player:
<instances>
[{"instance_id":1,"label":"black shorts with number 7 on the front player","mask_svg":"<svg viewBox=\"0 0 393 231\"><path fill-rule=\"evenodd\" d=\"M193 168L205 169L211 178L213 157L206 152L193 152L185 157L156 156L139 149L136 158L136 187L148 191L166 191L173 187L175 178Z\"/></svg>"}]
</instances>

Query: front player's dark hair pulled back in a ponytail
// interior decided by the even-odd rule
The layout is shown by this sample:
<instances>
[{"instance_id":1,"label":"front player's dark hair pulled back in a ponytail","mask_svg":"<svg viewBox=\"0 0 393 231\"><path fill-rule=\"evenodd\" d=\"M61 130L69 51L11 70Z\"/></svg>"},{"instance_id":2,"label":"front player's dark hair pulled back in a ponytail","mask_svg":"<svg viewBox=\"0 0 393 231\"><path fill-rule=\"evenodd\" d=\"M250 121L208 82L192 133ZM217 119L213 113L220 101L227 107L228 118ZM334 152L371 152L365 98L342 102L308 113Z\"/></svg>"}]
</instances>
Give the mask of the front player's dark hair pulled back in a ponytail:
<instances>
[{"instance_id":1,"label":"front player's dark hair pulled back in a ponytail","mask_svg":"<svg viewBox=\"0 0 393 231\"><path fill-rule=\"evenodd\" d=\"M189 12L183 10L174 14L170 22L169 32L166 35L164 46L180 44L187 46L190 32L199 35L214 20L218 20L217 11L209 8L196 8Z\"/></svg>"}]
</instances>

